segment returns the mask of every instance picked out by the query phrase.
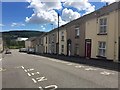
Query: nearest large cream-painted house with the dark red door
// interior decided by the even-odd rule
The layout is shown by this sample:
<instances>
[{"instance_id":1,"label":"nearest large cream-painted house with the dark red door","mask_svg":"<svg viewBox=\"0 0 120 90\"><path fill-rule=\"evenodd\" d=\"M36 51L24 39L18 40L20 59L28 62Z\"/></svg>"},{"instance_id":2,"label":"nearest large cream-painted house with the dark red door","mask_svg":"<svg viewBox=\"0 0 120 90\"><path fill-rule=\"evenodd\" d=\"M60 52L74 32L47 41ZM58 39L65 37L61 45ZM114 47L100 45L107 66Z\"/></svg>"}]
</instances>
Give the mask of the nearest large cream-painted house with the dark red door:
<instances>
[{"instance_id":1,"label":"nearest large cream-painted house with the dark red door","mask_svg":"<svg viewBox=\"0 0 120 90\"><path fill-rule=\"evenodd\" d=\"M120 60L120 2L88 16L85 31L86 57ZM119 8L118 8L119 7Z\"/></svg>"}]
</instances>

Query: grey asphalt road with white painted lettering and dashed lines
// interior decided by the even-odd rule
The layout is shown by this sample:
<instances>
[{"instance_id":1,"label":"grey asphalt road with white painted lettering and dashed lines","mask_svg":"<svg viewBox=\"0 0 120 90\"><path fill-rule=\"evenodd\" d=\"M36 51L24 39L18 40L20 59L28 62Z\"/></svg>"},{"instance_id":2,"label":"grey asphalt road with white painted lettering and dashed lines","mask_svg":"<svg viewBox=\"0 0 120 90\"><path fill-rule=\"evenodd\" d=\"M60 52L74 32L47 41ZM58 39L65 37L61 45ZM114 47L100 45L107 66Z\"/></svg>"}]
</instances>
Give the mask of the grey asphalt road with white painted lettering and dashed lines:
<instances>
[{"instance_id":1,"label":"grey asphalt road with white painted lettering and dashed lines","mask_svg":"<svg viewBox=\"0 0 120 90\"><path fill-rule=\"evenodd\" d=\"M1 62L2 88L118 88L117 71L18 50L3 55Z\"/></svg>"}]
</instances>

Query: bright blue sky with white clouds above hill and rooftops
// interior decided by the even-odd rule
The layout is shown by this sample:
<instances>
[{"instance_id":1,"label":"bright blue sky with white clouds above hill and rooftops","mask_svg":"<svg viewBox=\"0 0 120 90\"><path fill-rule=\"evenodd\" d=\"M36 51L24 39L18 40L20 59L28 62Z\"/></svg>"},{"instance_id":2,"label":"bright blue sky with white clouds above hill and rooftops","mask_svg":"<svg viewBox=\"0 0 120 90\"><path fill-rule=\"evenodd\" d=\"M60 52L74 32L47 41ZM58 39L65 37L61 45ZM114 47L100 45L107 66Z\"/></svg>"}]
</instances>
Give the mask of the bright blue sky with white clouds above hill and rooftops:
<instances>
[{"instance_id":1,"label":"bright blue sky with white clouds above hill and rooftops","mask_svg":"<svg viewBox=\"0 0 120 90\"><path fill-rule=\"evenodd\" d=\"M93 0L94 1L94 0ZM115 0L26 0L25 2L0 2L0 28L2 31L36 30L48 32L57 27L58 14L60 26L91 13Z\"/></svg>"}]
</instances>

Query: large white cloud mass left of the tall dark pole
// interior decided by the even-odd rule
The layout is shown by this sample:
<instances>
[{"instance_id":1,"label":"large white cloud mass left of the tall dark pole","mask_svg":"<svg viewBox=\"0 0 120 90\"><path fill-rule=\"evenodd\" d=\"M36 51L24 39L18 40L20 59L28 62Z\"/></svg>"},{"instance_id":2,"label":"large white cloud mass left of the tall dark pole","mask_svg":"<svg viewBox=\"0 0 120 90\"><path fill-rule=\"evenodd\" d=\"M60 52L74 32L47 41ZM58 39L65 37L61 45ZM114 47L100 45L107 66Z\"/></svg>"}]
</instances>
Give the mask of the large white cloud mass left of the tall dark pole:
<instances>
[{"instance_id":1,"label":"large white cloud mass left of the tall dark pole","mask_svg":"<svg viewBox=\"0 0 120 90\"><path fill-rule=\"evenodd\" d=\"M28 8L33 8L34 13L31 17L26 17L26 22L35 24L56 23L57 13L53 9L62 9L61 2L42 2L42 0L29 0Z\"/></svg>"}]
</instances>

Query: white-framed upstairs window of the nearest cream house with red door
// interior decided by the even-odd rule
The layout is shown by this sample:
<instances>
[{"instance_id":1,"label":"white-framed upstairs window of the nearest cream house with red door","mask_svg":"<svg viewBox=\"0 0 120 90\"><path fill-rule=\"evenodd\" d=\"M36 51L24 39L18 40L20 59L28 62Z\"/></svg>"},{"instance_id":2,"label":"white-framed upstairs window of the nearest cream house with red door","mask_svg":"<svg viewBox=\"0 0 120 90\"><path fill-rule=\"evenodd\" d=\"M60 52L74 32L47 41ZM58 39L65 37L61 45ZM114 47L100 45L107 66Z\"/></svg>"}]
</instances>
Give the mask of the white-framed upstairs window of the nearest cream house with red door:
<instances>
[{"instance_id":1,"label":"white-framed upstairs window of the nearest cream house with red door","mask_svg":"<svg viewBox=\"0 0 120 90\"><path fill-rule=\"evenodd\" d=\"M106 34L107 33L107 18L102 18L99 20L99 34Z\"/></svg>"}]
</instances>

